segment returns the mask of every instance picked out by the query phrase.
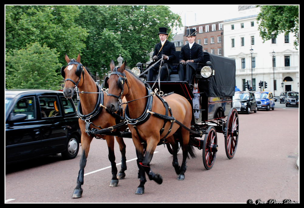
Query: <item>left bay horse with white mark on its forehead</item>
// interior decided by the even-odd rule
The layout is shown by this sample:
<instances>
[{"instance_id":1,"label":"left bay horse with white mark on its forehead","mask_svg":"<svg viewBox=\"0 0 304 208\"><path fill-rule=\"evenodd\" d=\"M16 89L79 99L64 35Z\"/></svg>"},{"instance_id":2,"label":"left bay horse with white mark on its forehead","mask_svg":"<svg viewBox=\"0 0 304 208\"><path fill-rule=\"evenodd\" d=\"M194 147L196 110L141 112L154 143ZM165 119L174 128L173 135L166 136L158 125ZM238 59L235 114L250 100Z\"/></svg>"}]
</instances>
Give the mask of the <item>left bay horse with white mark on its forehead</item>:
<instances>
[{"instance_id":1,"label":"left bay horse with white mark on its forehead","mask_svg":"<svg viewBox=\"0 0 304 208\"><path fill-rule=\"evenodd\" d=\"M65 55L67 66L61 68L61 75L64 77L64 89L63 93L66 98L72 98L74 91L87 92L85 94L79 93L78 103L78 121L81 129L81 159L80 170L78 172L77 185L74 189L72 198L79 198L82 196L82 188L84 182L84 168L87 163L88 153L90 149L90 143L94 137L105 139L109 149L109 160L112 166L112 179L110 181L110 187L118 185L118 179L124 179L126 167L126 145L122 137L116 137L119 144L119 149L122 155L121 170L118 176L115 163L114 154L114 136L108 135L95 135L94 129L105 129L116 125L116 118L107 112L103 105L108 99L106 93L102 93L102 89L98 86L91 76L91 73L85 69L80 62L80 54L77 59L69 59ZM102 103L100 103L102 102Z\"/></svg>"}]
</instances>

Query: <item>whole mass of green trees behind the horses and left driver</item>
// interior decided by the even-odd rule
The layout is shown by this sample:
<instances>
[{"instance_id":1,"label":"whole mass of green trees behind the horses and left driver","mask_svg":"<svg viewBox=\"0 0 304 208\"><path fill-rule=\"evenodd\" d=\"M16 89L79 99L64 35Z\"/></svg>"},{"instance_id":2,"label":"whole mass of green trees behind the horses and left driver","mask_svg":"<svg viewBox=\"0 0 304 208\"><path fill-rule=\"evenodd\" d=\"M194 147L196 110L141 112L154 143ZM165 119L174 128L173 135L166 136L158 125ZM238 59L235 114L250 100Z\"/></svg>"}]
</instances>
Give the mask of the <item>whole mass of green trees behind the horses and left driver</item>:
<instances>
[{"instance_id":1,"label":"whole mass of green trees behind the horses and left driver","mask_svg":"<svg viewBox=\"0 0 304 208\"><path fill-rule=\"evenodd\" d=\"M60 88L65 54L80 52L82 64L101 77L119 54L130 67L147 62L158 28L170 32L177 19L163 5L5 5L5 86ZM181 26L179 19L175 28Z\"/></svg>"}]
</instances>

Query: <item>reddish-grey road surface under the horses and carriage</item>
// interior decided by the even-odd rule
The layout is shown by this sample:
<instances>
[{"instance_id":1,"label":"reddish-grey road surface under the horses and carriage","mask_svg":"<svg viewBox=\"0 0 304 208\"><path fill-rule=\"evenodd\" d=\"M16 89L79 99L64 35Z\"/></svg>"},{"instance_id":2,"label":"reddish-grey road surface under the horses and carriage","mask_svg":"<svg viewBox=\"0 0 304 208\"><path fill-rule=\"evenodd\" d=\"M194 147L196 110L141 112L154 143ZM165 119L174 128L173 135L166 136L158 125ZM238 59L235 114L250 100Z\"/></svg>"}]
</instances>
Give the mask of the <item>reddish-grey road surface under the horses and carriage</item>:
<instances>
[{"instance_id":1,"label":"reddish-grey road surface under the horses and carriage","mask_svg":"<svg viewBox=\"0 0 304 208\"><path fill-rule=\"evenodd\" d=\"M233 159L225 153L224 136L218 133L215 164L206 170L202 150L188 159L185 180L178 181L172 155L157 146L151 161L161 185L148 179L145 193L135 195L139 185L135 148L127 145L126 178L109 187L111 168L106 142L94 139L85 167L83 195L72 199L79 170L81 148L72 160L60 155L5 166L5 203L261 203L268 200L299 202L299 108L275 103L275 110L239 114L239 142ZM116 163L120 152L116 143ZM182 160L181 151L178 153ZM118 164L120 168L120 165Z\"/></svg>"}]
</instances>

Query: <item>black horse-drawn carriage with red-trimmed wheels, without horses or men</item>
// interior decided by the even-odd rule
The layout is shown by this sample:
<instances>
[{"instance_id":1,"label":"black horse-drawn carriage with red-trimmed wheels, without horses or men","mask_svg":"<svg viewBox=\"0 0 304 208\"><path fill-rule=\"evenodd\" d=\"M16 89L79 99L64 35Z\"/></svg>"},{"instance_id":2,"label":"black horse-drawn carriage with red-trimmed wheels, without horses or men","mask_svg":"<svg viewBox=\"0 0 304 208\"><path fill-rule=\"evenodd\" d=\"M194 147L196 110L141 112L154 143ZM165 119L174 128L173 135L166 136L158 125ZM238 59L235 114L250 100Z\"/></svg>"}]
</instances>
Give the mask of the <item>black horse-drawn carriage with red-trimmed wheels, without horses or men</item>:
<instances>
[{"instance_id":1,"label":"black horse-drawn carriage with red-trimmed wheels, without horses or men","mask_svg":"<svg viewBox=\"0 0 304 208\"><path fill-rule=\"evenodd\" d=\"M176 57L179 57L179 53L176 52ZM150 65L137 63L131 71L141 74L140 77L146 80L147 74L143 72ZM229 159L233 158L237 148L239 121L237 110L232 106L235 60L204 52L204 62L198 64L191 84L178 80L177 65L178 60L175 60L167 81L158 82L157 75L154 75L153 81L146 83L153 86L152 90L159 88L163 93L174 92L188 99L192 105L190 140L193 146L203 150L204 166L211 169L218 149L216 132L224 134L225 151ZM178 133L175 133L174 138L179 139ZM171 153L169 144L167 146Z\"/></svg>"}]
</instances>

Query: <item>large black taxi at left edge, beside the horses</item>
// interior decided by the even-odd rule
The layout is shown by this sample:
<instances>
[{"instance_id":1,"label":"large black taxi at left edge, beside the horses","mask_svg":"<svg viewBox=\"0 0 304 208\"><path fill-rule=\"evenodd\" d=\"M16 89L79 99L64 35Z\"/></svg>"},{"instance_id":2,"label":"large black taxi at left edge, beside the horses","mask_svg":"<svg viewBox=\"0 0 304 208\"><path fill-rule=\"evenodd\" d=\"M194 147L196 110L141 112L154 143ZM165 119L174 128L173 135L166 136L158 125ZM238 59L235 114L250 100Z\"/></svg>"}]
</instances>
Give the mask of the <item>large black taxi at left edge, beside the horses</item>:
<instances>
[{"instance_id":1,"label":"large black taxi at left edge, beside the horses","mask_svg":"<svg viewBox=\"0 0 304 208\"><path fill-rule=\"evenodd\" d=\"M55 90L5 91L5 163L77 156L81 131L72 99Z\"/></svg>"}]
</instances>

